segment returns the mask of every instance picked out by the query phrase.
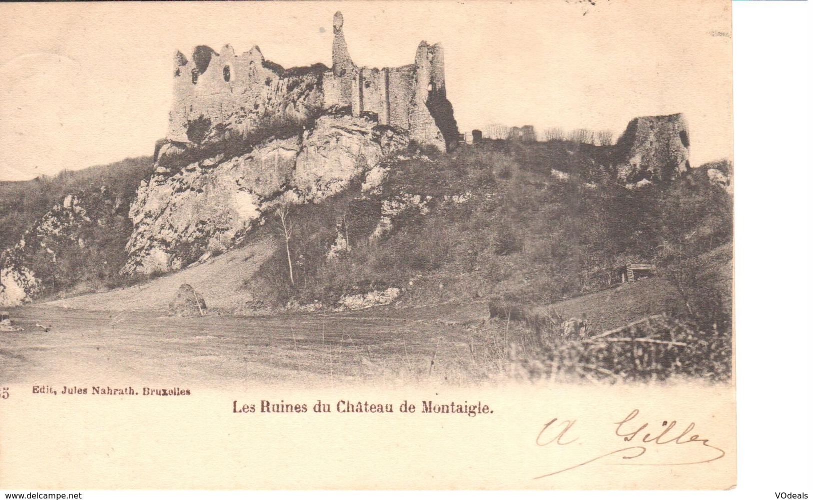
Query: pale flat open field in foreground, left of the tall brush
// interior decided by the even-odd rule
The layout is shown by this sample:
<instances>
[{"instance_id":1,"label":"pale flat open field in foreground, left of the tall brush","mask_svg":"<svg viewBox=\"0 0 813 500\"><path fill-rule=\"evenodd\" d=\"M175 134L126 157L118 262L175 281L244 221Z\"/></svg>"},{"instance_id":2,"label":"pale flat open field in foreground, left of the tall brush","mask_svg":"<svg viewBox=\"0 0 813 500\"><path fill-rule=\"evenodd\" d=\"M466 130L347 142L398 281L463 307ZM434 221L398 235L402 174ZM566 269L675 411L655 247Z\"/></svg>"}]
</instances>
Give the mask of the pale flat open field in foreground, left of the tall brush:
<instances>
[{"instance_id":1,"label":"pale flat open field in foreground, left of the tall brush","mask_svg":"<svg viewBox=\"0 0 813 500\"><path fill-rule=\"evenodd\" d=\"M25 307L0 337L0 380L43 385L234 385L428 376L469 350L484 304L241 318ZM48 322L46 333L35 323ZM455 365L456 366L456 365ZM456 370L456 368L455 368ZM463 372L453 373L462 381ZM448 376L448 374L446 375Z\"/></svg>"}]
</instances>

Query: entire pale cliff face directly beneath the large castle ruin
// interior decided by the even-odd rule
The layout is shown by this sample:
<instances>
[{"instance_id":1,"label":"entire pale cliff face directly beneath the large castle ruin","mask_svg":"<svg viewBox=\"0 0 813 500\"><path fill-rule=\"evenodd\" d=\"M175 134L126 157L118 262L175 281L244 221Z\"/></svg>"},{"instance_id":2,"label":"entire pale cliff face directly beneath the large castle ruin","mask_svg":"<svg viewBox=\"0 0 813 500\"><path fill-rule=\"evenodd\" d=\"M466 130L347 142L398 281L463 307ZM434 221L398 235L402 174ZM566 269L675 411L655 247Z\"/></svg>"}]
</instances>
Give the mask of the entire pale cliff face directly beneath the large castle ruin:
<instances>
[{"instance_id":1,"label":"entire pale cliff face directly beneath the large castle ruin","mask_svg":"<svg viewBox=\"0 0 813 500\"><path fill-rule=\"evenodd\" d=\"M130 208L134 228L122 272L174 271L205 260L263 224L280 195L287 202L320 202L406 146L403 133L373 117L341 113L320 116L301 136L270 139L234 158L218 153L180 168L173 165L195 149L167 143Z\"/></svg>"}]
</instances>

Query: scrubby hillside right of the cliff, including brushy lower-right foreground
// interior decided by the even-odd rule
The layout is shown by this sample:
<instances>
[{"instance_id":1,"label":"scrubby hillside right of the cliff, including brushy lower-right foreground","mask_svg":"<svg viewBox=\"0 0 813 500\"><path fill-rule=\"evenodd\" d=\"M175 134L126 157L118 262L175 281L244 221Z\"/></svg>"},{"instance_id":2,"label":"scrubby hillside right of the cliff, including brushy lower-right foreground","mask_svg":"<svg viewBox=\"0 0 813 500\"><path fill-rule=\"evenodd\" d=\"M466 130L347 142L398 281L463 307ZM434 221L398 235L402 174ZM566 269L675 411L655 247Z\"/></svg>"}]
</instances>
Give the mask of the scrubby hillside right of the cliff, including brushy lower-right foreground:
<instances>
[{"instance_id":1,"label":"scrubby hillside right of the cliff, including brushy lower-right foreground","mask_svg":"<svg viewBox=\"0 0 813 500\"><path fill-rule=\"evenodd\" d=\"M266 309L330 308L397 288L402 304L488 300L544 312L554 320L472 329L472 339L485 339L470 346L478 366L525 380L727 379L733 206L706 169L730 166L636 187L615 181L613 154L564 141L489 141L391 160L377 189L292 207L290 262L272 254L246 289ZM271 222L263 232L285 248ZM658 277L608 288L628 260L654 262ZM590 334L619 329L577 341L560 324L572 317L588 320Z\"/></svg>"}]
</instances>

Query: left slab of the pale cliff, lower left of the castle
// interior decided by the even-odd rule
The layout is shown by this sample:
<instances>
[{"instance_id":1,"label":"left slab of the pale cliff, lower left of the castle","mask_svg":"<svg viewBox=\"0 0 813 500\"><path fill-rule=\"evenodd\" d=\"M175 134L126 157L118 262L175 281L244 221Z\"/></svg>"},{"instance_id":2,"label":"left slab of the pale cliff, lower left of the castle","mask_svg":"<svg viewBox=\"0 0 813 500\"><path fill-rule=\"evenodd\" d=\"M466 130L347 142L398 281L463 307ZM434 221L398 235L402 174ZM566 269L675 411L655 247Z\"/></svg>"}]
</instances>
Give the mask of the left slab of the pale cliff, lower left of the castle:
<instances>
[{"instance_id":1,"label":"left slab of the pale cliff, lower left of the castle","mask_svg":"<svg viewBox=\"0 0 813 500\"><path fill-rule=\"evenodd\" d=\"M231 159L218 154L176 172L159 158L130 207L133 234L122 272L178 270L233 246L282 192L299 149L298 137L275 139L250 153Z\"/></svg>"}]
</instances>

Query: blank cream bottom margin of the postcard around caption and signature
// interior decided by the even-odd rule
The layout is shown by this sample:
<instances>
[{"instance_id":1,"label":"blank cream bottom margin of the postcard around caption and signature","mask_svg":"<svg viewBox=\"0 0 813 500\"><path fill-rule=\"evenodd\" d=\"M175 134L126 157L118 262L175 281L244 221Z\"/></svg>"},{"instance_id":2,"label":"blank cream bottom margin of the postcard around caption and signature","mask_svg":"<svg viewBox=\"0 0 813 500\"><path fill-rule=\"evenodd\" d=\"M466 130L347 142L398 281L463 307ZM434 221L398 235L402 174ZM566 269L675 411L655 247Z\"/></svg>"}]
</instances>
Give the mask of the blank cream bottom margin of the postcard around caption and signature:
<instances>
[{"instance_id":1,"label":"blank cream bottom margin of the postcard around caption and signature","mask_svg":"<svg viewBox=\"0 0 813 500\"><path fill-rule=\"evenodd\" d=\"M46 18L42 26L48 25ZM457 106L457 102L454 104ZM737 164L739 167L741 163ZM748 165L747 159L743 164ZM748 179L748 172L743 177ZM738 215L748 210L737 207ZM762 256L753 250L750 254L749 250L741 251L740 246L737 252L738 259L743 254L754 260ZM741 315L737 317L740 320ZM739 322L737 326L742 334ZM770 346L767 348L770 350ZM793 359L793 353L787 356ZM772 379L763 373L750 380ZM71 382L48 381L54 385ZM133 385L138 383L133 380ZM184 384L179 381L179 385ZM27 397L25 392L30 391L30 386L12 386L15 397L4 401L0 408L0 488L726 489L736 482L733 388L728 386L566 385L387 391L335 387L191 388L192 398L145 401L141 397ZM404 398L420 401L441 397L435 396L436 392L444 398L483 400L495 408L495 413L473 419L461 415L333 414L323 415L328 418L322 421L310 413L231 413L233 399L310 402L314 398L361 398L398 403ZM778 392L784 393L781 389ZM580 422L600 425L623 417L633 407L653 415L648 421L663 418L698 423L698 433L726 450L726 458L694 466L641 467L635 472L629 472L637 469L632 466L585 466L552 476L546 482L529 479L550 470L546 467L572 458L546 456L533 446L538 429L550 416L575 415ZM793 415L788 418L791 425L798 422ZM595 441L595 446L615 445L611 430L607 434L611 442ZM601 435L599 428L596 437L600 439ZM809 433L804 437L809 438Z\"/></svg>"}]
</instances>

